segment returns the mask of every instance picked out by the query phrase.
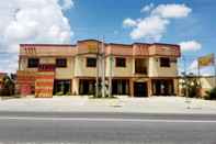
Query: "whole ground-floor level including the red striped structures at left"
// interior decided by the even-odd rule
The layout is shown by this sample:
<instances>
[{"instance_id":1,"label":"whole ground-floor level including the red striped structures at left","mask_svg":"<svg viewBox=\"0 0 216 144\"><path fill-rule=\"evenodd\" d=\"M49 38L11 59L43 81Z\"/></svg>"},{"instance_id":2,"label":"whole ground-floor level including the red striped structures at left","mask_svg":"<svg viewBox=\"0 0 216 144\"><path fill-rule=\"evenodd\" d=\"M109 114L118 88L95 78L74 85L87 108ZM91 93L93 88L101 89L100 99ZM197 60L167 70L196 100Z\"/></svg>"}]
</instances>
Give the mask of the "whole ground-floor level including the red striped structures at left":
<instances>
[{"instance_id":1,"label":"whole ground-floor level including the red striped structures at left","mask_svg":"<svg viewBox=\"0 0 216 144\"><path fill-rule=\"evenodd\" d=\"M96 84L99 92L102 89L101 78L73 77L56 78L53 71L18 73L18 88L22 96L35 97L53 96L90 96L95 95ZM109 95L111 84L113 96L150 97L178 96L178 77L112 77L105 78L105 92Z\"/></svg>"}]
</instances>

